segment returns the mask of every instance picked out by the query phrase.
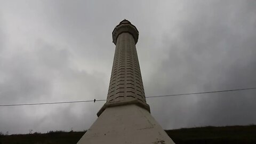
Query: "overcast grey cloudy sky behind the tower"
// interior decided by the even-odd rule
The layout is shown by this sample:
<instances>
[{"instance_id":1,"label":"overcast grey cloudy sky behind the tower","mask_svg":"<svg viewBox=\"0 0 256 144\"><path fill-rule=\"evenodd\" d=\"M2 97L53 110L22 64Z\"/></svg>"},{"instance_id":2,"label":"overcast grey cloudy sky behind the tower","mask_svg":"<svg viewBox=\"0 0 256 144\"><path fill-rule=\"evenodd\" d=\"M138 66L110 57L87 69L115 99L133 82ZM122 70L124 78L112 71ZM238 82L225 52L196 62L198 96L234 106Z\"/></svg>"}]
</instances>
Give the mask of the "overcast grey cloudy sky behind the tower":
<instances>
[{"instance_id":1,"label":"overcast grey cloudy sky behind the tower","mask_svg":"<svg viewBox=\"0 0 256 144\"><path fill-rule=\"evenodd\" d=\"M106 99L123 19L147 96L256 87L256 1L2 1L0 105ZM163 129L256 124L256 90L148 98ZM0 132L83 131L104 102L0 107Z\"/></svg>"}]
</instances>

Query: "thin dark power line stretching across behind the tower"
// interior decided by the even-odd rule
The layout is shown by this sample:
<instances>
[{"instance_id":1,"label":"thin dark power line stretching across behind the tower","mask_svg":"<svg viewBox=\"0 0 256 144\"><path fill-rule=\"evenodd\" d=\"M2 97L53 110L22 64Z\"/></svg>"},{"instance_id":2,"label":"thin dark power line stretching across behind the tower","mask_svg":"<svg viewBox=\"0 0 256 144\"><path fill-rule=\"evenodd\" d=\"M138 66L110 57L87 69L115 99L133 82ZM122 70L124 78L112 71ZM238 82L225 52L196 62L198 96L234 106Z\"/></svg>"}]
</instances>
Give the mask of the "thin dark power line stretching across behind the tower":
<instances>
[{"instance_id":1,"label":"thin dark power line stretching across behind the tower","mask_svg":"<svg viewBox=\"0 0 256 144\"><path fill-rule=\"evenodd\" d=\"M256 87L245 88L245 89L223 90L223 91L209 91L209 92L196 92L196 93L183 93L183 94L170 94L170 95L156 95L156 96L148 96L146 98L173 97L173 96L178 96L178 95L191 95L191 94L204 94L204 93L217 93L217 92L230 92L230 91L244 91L244 90L253 90L253 89L256 89ZM106 99L95 100L95 101L106 101ZM52 104L60 104L60 103L78 103L78 102L94 102L94 100L9 104L9 105L0 105L0 107L5 107L5 106L29 106L29 105L52 105Z\"/></svg>"}]
</instances>

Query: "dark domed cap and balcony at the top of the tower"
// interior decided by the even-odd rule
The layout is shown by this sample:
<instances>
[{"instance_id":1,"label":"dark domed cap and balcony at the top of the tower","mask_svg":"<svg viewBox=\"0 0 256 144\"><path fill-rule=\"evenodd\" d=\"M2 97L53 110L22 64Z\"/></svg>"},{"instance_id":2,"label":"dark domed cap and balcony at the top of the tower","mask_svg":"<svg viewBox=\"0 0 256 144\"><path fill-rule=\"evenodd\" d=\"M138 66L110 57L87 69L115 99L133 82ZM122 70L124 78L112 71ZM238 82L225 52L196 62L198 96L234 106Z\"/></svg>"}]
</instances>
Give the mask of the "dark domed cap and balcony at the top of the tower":
<instances>
[{"instance_id":1,"label":"dark domed cap and balcony at the top of the tower","mask_svg":"<svg viewBox=\"0 0 256 144\"><path fill-rule=\"evenodd\" d=\"M130 33L135 41L135 44L138 42L139 38L139 31L138 29L132 25L132 23L129 20L122 20L119 25L115 27L115 29L112 32L112 37L113 37L113 43L116 44L116 40L118 36L122 33Z\"/></svg>"}]
</instances>

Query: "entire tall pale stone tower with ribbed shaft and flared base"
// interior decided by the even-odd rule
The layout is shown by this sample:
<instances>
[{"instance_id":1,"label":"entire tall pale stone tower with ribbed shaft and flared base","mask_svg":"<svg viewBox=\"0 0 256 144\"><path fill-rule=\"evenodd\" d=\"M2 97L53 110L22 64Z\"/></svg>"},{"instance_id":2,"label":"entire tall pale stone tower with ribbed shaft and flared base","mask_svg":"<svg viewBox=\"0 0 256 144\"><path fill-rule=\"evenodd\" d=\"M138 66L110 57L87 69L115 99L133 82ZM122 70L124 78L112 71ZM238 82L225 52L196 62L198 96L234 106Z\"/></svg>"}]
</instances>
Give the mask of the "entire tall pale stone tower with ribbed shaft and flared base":
<instances>
[{"instance_id":1,"label":"entire tall pale stone tower with ribbed shaft and flared base","mask_svg":"<svg viewBox=\"0 0 256 144\"><path fill-rule=\"evenodd\" d=\"M123 20L112 33L116 45L107 102L78 144L174 143L150 114L135 44L139 31Z\"/></svg>"}]
</instances>

